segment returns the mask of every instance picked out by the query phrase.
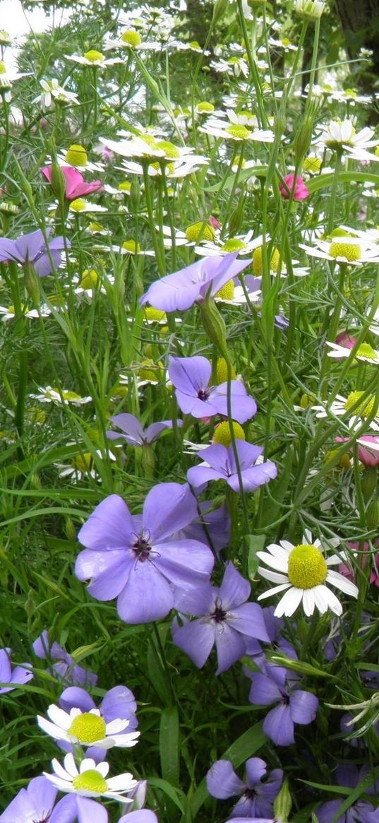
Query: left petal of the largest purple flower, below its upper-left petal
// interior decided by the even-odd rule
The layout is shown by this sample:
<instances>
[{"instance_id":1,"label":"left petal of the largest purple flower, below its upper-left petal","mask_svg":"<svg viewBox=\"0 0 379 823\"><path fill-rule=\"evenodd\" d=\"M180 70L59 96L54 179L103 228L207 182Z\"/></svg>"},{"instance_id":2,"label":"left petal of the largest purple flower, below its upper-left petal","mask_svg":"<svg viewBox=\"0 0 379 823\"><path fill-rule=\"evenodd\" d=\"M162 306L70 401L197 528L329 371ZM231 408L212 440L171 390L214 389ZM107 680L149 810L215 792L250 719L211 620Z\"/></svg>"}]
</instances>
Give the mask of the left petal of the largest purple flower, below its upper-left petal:
<instances>
[{"instance_id":1,"label":"left petal of the largest purple flower, below its upper-left petal","mask_svg":"<svg viewBox=\"0 0 379 823\"><path fill-rule=\"evenodd\" d=\"M86 549L76 557L75 574L82 583L90 580L88 591L92 597L113 600L127 584L133 563L132 552Z\"/></svg>"}]
</instances>

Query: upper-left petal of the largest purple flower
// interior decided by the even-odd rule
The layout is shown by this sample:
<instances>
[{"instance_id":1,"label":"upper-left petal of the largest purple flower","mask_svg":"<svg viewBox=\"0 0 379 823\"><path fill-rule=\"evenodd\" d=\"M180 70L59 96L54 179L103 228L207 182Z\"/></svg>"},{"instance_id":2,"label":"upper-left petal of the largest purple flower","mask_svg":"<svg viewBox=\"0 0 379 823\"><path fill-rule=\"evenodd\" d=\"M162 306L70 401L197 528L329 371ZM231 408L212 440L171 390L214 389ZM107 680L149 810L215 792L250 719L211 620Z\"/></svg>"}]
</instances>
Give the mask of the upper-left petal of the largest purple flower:
<instances>
[{"instance_id":1,"label":"upper-left petal of the largest purple flower","mask_svg":"<svg viewBox=\"0 0 379 823\"><path fill-rule=\"evenodd\" d=\"M87 549L113 551L130 546L134 534L127 504L118 495L110 495L96 506L77 539Z\"/></svg>"}]
</instances>

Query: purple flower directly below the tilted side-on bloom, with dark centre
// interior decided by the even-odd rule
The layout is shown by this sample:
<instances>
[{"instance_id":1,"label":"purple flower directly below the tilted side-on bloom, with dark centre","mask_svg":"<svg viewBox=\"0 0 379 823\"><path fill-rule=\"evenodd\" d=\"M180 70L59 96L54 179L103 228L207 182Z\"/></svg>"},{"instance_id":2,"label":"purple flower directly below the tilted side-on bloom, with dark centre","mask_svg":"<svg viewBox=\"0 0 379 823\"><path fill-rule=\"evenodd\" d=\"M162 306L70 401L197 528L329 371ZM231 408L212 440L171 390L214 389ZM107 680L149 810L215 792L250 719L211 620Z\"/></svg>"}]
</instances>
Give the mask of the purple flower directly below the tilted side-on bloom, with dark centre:
<instances>
[{"instance_id":1,"label":"purple flower directly below the tilted side-on bloom, with dark centre","mask_svg":"<svg viewBox=\"0 0 379 823\"><path fill-rule=\"evenodd\" d=\"M211 259L211 258L209 258ZM170 357L169 379L176 389L178 407L192 417L228 416L228 383L210 387L212 367L206 357ZM244 423L257 412L257 403L247 396L239 380L231 381L232 417Z\"/></svg>"}]
</instances>

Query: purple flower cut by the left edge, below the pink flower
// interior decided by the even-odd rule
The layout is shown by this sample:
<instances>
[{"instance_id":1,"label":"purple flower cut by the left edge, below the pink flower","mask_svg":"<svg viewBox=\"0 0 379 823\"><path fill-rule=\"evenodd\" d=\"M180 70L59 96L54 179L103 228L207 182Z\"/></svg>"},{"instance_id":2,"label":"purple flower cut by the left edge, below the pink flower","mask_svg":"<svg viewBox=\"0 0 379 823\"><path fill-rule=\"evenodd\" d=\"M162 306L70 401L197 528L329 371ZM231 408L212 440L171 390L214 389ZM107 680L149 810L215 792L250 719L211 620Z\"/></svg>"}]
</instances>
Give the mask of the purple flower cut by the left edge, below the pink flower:
<instances>
[{"instance_id":1,"label":"purple flower cut by the left edge, below the pink flower","mask_svg":"<svg viewBox=\"0 0 379 823\"><path fill-rule=\"evenodd\" d=\"M50 229L46 229L46 235L49 237ZM32 263L35 272L39 277L46 277L52 271L52 264L50 258L53 260L53 265L58 268L61 263L61 250L64 249L64 239L56 237L49 240L46 246L44 235L42 231L32 231L29 235L23 235L16 240L7 239L7 237L0 237L0 263L4 260L14 260L16 263ZM71 243L67 240L67 247L70 248ZM49 253L48 250L49 249Z\"/></svg>"}]
</instances>

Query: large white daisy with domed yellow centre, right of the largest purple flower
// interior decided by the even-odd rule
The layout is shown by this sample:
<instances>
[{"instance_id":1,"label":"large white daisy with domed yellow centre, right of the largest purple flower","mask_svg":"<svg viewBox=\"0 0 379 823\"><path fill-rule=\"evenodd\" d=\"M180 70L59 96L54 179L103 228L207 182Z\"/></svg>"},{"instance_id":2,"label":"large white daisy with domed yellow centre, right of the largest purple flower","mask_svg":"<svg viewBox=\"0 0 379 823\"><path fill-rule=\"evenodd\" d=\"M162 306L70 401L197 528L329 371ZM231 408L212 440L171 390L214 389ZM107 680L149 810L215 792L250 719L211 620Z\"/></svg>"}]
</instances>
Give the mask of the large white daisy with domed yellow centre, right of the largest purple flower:
<instances>
[{"instance_id":1,"label":"large white daisy with domed yellow centre, right of the largest purple flower","mask_svg":"<svg viewBox=\"0 0 379 823\"><path fill-rule=\"evenodd\" d=\"M326 547L335 547L339 542L338 538L330 540ZM261 594L258 600L285 592L275 608L275 617L290 617L300 603L307 616L312 615L315 608L320 614L325 614L328 609L335 615L342 614L340 601L326 584L339 588L351 597L358 597L358 588L354 583L330 570L330 566L340 563L341 557L344 559L344 553L341 552L340 556L324 556L320 540L313 540L307 529L300 545L293 546L288 540L280 540L279 545L271 543L267 546L267 551L257 551L257 556L269 566L269 569L258 566L259 574L278 584Z\"/></svg>"}]
</instances>

